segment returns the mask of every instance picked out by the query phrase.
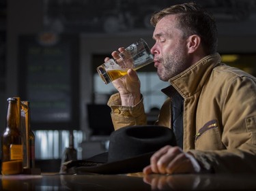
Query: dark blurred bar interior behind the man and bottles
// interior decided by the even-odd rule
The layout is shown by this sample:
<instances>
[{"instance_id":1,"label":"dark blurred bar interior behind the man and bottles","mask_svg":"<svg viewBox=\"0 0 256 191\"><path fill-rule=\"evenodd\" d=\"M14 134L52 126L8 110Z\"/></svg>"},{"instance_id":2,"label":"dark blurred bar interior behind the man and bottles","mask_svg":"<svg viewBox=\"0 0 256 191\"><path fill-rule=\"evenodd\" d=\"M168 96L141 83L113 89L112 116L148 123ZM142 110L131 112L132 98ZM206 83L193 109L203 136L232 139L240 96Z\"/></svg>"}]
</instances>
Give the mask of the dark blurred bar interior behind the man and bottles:
<instances>
[{"instance_id":1,"label":"dark blurred bar interior behind the man and bottles","mask_svg":"<svg viewBox=\"0 0 256 191\"><path fill-rule=\"evenodd\" d=\"M96 67L139 38L152 46L152 13L184 2L0 0L0 131L6 99L20 97L31 103L38 161L60 162L69 131L79 159L107 150L113 126L106 102L115 88L102 82ZM223 63L256 75L256 1L196 2L216 18ZM154 65L138 73L152 123L166 99L160 89L168 84L158 80Z\"/></svg>"}]
</instances>

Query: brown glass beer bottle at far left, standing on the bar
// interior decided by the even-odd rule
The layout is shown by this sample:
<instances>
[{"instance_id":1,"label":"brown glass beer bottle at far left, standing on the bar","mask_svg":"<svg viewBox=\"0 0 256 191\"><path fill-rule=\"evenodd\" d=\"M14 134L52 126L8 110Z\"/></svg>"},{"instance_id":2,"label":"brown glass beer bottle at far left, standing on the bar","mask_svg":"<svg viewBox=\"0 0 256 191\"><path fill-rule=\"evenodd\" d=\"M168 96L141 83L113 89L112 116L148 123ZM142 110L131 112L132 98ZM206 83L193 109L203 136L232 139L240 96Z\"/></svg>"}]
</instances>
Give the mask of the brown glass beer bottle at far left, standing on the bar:
<instances>
[{"instance_id":1,"label":"brown glass beer bottle at far left, standing on the bar","mask_svg":"<svg viewBox=\"0 0 256 191\"><path fill-rule=\"evenodd\" d=\"M20 116L17 99L8 99L6 128L1 137L3 175L23 172L23 138L20 133Z\"/></svg>"}]
</instances>

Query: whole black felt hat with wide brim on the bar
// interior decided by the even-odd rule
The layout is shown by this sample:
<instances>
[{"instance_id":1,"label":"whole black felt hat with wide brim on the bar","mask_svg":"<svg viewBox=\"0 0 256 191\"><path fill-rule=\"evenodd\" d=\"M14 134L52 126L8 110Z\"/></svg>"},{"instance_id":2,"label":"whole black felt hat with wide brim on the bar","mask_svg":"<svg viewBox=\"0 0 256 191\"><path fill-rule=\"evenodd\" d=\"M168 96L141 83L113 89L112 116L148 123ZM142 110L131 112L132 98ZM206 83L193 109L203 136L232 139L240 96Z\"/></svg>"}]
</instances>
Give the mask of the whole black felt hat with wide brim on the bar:
<instances>
[{"instance_id":1,"label":"whole black felt hat with wide brim on the bar","mask_svg":"<svg viewBox=\"0 0 256 191\"><path fill-rule=\"evenodd\" d=\"M150 164L150 157L165 145L176 145L175 136L165 126L127 126L110 135L109 151L87 160L66 162L65 173L134 173Z\"/></svg>"}]
</instances>

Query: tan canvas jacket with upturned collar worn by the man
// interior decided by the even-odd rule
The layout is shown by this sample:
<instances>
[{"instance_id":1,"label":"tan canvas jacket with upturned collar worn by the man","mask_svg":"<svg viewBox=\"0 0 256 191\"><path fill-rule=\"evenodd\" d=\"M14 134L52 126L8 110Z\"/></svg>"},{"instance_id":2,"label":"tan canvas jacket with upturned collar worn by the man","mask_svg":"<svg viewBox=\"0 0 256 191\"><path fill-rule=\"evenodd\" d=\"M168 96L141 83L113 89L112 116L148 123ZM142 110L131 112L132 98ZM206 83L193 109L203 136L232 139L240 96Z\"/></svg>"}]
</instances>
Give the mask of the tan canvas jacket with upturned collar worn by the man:
<instances>
[{"instance_id":1,"label":"tan canvas jacket with upturned collar worn by the man","mask_svg":"<svg viewBox=\"0 0 256 191\"><path fill-rule=\"evenodd\" d=\"M184 98L184 147L215 173L256 173L256 79L221 63L216 53L199 60L171 80ZM143 99L120 106L119 94L108 102L115 129L146 124ZM171 97L156 124L171 128Z\"/></svg>"}]
</instances>

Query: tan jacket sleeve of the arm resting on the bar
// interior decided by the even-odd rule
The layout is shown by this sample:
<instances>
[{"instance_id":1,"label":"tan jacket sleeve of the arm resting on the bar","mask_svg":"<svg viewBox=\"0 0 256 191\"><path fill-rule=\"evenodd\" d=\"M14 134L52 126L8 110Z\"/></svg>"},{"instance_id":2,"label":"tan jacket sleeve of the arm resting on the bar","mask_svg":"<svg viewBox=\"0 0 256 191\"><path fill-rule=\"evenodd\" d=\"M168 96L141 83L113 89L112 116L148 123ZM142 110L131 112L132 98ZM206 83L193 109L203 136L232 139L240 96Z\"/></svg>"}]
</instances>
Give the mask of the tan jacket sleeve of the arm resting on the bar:
<instances>
[{"instance_id":1,"label":"tan jacket sleeve of the arm resting on the bar","mask_svg":"<svg viewBox=\"0 0 256 191\"><path fill-rule=\"evenodd\" d=\"M256 173L256 82L236 77L223 88L221 141L225 150L190 150L215 173Z\"/></svg>"}]
</instances>

